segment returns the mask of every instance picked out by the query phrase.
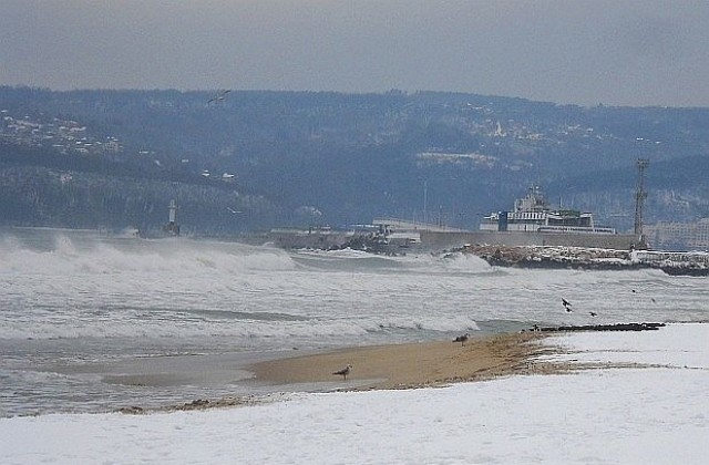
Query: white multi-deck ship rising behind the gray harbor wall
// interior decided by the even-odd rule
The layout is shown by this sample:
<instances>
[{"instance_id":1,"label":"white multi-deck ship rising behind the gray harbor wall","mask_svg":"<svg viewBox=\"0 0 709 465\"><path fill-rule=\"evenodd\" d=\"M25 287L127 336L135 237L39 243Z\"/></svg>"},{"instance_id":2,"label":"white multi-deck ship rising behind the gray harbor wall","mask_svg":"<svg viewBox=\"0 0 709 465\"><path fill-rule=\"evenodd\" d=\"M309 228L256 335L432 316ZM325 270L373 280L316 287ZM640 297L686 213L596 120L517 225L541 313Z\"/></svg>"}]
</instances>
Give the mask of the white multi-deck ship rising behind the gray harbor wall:
<instances>
[{"instance_id":1,"label":"white multi-deck ship rising behind the gray harbor wall","mask_svg":"<svg viewBox=\"0 0 709 465\"><path fill-rule=\"evenodd\" d=\"M510 211L494 211L480 225L483 231L616 234L615 228L596 225L594 215L565 208L552 208L538 186L514 203Z\"/></svg>"}]
</instances>

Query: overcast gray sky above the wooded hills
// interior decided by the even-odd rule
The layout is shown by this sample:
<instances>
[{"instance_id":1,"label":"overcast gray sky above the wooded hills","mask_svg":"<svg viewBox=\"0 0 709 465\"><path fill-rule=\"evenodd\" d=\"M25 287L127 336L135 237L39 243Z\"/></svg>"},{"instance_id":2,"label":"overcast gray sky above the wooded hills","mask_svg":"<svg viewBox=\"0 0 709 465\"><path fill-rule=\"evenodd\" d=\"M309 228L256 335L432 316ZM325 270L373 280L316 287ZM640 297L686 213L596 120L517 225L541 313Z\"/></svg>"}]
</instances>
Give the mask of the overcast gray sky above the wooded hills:
<instances>
[{"instance_id":1,"label":"overcast gray sky above the wooded hills","mask_svg":"<svg viewBox=\"0 0 709 465\"><path fill-rule=\"evenodd\" d=\"M0 0L0 85L709 106L709 1Z\"/></svg>"}]
</instances>

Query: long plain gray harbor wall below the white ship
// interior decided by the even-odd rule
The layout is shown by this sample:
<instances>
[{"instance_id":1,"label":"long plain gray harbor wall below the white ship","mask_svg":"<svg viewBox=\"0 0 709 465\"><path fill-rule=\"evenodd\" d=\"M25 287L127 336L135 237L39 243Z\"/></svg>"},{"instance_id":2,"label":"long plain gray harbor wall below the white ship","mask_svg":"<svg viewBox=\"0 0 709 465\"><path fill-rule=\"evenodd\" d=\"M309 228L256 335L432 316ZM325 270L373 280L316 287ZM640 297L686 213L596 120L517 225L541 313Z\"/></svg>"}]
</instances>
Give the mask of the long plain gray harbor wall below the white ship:
<instances>
[{"instance_id":1,"label":"long plain gray harbor wall below the white ship","mask_svg":"<svg viewBox=\"0 0 709 465\"><path fill-rule=\"evenodd\" d=\"M427 249L443 250L465 244L501 246L594 247L628 250L638 246L633 234L558 234L517 231L427 231L421 230L421 244Z\"/></svg>"}]
</instances>

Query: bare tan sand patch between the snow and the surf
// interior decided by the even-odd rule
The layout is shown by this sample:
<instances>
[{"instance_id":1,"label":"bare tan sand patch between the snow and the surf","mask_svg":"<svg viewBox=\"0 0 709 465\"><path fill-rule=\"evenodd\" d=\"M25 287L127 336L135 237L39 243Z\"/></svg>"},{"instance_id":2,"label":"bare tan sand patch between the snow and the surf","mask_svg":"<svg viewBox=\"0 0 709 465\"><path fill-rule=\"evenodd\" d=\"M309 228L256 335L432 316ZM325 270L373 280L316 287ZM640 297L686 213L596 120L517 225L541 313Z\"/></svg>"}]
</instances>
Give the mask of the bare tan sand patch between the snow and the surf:
<instances>
[{"instance_id":1,"label":"bare tan sand patch between the snow and the surf","mask_svg":"<svg viewBox=\"0 0 709 465\"><path fill-rule=\"evenodd\" d=\"M340 390L410 389L484 380L528 370L528 360L549 350L538 333L471 337L440 341L342 349L260 362L249 371L270 384L339 381ZM335 375L352 365L347 380Z\"/></svg>"}]
</instances>

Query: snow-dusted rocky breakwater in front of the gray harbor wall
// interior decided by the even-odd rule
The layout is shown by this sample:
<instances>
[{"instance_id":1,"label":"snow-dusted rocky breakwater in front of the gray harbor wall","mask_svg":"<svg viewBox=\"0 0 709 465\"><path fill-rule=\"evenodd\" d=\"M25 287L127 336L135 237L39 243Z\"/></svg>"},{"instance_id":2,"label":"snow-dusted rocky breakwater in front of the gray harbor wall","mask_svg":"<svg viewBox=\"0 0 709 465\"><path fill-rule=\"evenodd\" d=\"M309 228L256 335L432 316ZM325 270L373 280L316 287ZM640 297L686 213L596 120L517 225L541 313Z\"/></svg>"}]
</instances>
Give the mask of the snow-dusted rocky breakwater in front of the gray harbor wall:
<instances>
[{"instance_id":1,"label":"snow-dusted rocky breakwater in front of the gray harbor wall","mask_svg":"<svg viewBox=\"0 0 709 465\"><path fill-rule=\"evenodd\" d=\"M497 267L588 270L654 268L674 276L709 276L709 254L706 252L490 245L466 245L461 250Z\"/></svg>"}]
</instances>

